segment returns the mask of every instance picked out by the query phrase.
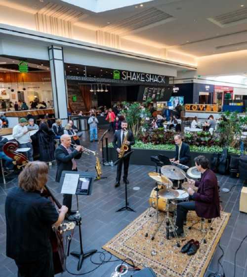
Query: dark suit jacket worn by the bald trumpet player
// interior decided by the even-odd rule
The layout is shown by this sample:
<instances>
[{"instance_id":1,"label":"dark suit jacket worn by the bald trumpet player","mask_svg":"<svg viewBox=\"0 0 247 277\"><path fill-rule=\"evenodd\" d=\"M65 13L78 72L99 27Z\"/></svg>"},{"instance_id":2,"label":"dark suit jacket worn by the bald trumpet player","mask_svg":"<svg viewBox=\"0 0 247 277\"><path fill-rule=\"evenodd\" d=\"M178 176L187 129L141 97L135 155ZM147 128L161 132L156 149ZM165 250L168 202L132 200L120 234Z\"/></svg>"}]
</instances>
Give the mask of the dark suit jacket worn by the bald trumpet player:
<instances>
[{"instance_id":1,"label":"dark suit jacket worn by the bald trumpet player","mask_svg":"<svg viewBox=\"0 0 247 277\"><path fill-rule=\"evenodd\" d=\"M62 171L71 171L72 170L72 159L80 159L82 156L82 152L77 151L76 149L72 149L72 153L68 153L65 147L60 144L55 150L55 159L57 161L57 174L56 174L56 182L60 182L60 178L62 175Z\"/></svg>"}]
</instances>

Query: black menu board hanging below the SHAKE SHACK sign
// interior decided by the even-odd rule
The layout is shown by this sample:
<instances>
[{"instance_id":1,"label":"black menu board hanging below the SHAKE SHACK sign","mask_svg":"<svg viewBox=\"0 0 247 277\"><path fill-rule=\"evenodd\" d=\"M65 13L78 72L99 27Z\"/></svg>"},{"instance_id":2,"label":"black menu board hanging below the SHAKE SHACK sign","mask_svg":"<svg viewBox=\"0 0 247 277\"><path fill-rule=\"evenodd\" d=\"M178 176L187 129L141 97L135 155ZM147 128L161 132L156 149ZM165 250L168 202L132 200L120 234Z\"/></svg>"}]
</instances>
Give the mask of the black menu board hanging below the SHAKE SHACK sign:
<instances>
[{"instance_id":1,"label":"black menu board hanging below the SHAKE SHACK sign","mask_svg":"<svg viewBox=\"0 0 247 277\"><path fill-rule=\"evenodd\" d=\"M152 98L153 102L168 101L171 94L171 86L140 86L137 101L145 102L148 98Z\"/></svg>"}]
</instances>

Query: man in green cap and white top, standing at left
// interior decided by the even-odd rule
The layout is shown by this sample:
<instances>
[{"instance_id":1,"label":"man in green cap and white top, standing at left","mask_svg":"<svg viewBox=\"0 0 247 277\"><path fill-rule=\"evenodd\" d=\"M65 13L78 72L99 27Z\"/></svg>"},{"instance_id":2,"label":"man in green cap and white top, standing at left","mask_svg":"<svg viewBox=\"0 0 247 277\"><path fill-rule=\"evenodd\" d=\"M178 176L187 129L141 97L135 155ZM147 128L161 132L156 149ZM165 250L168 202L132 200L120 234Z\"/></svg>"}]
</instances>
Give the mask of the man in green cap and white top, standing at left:
<instances>
[{"instance_id":1,"label":"man in green cap and white top, standing at left","mask_svg":"<svg viewBox=\"0 0 247 277\"><path fill-rule=\"evenodd\" d=\"M19 119L19 124L13 128L13 138L19 142L19 148L30 148L25 152L28 160L32 162L33 158L33 145L32 139L30 138L30 133L27 128L27 119L22 117Z\"/></svg>"}]
</instances>

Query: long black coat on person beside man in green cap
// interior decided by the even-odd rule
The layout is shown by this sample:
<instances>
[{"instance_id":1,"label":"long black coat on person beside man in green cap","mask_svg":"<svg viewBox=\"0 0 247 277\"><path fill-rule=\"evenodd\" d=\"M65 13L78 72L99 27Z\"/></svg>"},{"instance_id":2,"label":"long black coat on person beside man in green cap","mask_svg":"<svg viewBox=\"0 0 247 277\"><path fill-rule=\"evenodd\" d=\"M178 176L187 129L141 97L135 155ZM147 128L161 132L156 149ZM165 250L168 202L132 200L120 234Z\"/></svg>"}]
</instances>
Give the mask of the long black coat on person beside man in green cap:
<instances>
[{"instance_id":1,"label":"long black coat on person beside man in green cap","mask_svg":"<svg viewBox=\"0 0 247 277\"><path fill-rule=\"evenodd\" d=\"M41 123L40 130L32 136L34 152L40 155L42 162L54 161L55 152L55 134L45 123Z\"/></svg>"}]
</instances>

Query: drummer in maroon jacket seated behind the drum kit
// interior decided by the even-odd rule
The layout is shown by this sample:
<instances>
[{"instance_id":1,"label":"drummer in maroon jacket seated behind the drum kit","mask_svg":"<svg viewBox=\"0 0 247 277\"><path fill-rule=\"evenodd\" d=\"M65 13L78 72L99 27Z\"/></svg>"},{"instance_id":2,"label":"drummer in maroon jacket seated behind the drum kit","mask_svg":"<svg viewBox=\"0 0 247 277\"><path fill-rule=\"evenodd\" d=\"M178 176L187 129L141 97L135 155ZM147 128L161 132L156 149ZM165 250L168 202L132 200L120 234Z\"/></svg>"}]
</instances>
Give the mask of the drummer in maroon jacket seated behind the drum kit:
<instances>
[{"instance_id":1,"label":"drummer in maroon jacket seated behind the drum kit","mask_svg":"<svg viewBox=\"0 0 247 277\"><path fill-rule=\"evenodd\" d=\"M197 170L202 173L200 181L188 179L191 186L198 187L195 192L191 187L188 189L190 195L189 202L182 202L177 205L177 236L183 237L183 225L186 221L187 212L195 210L197 215L202 218L215 218L220 216L220 201L218 182L216 175L209 169L209 162L205 156L195 158ZM171 234L174 237L174 234Z\"/></svg>"}]
</instances>

